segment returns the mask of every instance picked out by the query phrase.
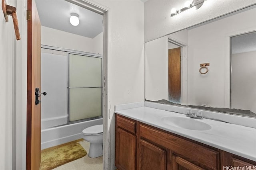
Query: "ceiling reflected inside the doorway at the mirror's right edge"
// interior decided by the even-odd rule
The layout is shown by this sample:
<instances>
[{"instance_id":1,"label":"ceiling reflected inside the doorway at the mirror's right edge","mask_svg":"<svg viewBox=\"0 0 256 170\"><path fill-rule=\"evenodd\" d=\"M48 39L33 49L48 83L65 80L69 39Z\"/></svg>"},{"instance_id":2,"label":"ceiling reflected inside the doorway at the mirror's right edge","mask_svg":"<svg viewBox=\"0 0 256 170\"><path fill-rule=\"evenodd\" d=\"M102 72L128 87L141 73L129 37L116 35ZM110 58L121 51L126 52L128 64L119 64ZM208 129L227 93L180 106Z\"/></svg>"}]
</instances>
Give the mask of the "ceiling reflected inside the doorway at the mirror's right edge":
<instances>
[{"instance_id":1,"label":"ceiling reflected inside the doorway at the mirror's right edge","mask_svg":"<svg viewBox=\"0 0 256 170\"><path fill-rule=\"evenodd\" d=\"M256 51L256 32L232 37L231 48L232 54Z\"/></svg>"}]
</instances>

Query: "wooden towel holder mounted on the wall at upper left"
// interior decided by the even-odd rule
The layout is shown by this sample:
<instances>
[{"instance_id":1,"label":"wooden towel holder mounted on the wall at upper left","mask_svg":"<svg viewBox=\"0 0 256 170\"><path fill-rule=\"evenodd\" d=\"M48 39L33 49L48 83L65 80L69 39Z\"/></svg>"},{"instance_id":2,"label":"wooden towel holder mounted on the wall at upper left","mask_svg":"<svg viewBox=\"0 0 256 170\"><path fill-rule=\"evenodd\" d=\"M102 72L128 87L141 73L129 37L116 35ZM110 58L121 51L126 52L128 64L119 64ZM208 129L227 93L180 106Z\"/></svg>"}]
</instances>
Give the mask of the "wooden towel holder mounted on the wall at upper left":
<instances>
[{"instance_id":1,"label":"wooden towel holder mounted on the wall at upper left","mask_svg":"<svg viewBox=\"0 0 256 170\"><path fill-rule=\"evenodd\" d=\"M6 4L6 0L2 0L2 10L4 12L5 21L8 22L8 15L12 16L13 24L14 24L14 31L16 35L16 39L20 40L20 31L18 25L18 18L16 14L16 8Z\"/></svg>"}]
</instances>

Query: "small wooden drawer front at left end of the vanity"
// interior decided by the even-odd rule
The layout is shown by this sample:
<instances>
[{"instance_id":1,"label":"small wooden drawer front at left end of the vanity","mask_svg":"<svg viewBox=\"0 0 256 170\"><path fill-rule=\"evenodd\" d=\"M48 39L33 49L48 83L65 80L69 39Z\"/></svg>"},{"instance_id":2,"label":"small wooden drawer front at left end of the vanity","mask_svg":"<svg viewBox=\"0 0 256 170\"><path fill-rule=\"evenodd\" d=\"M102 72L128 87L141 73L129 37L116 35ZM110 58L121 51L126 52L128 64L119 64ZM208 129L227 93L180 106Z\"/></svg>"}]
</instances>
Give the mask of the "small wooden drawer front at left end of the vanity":
<instances>
[{"instance_id":1,"label":"small wooden drawer front at left end of the vanity","mask_svg":"<svg viewBox=\"0 0 256 170\"><path fill-rule=\"evenodd\" d=\"M118 114L116 114L116 126L122 127L123 129L136 133L136 123L135 121L126 119Z\"/></svg>"}]
</instances>

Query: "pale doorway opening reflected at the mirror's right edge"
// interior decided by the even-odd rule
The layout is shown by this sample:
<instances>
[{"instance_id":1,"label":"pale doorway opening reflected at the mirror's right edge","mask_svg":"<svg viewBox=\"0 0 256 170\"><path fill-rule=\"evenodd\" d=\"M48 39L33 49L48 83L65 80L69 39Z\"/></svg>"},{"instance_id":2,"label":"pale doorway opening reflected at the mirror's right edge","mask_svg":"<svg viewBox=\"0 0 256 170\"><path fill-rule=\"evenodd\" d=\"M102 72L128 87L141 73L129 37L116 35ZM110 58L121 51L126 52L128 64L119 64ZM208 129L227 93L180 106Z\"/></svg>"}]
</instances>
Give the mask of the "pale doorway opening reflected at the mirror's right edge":
<instances>
[{"instance_id":1,"label":"pale doorway opening reflected at the mirror's right edge","mask_svg":"<svg viewBox=\"0 0 256 170\"><path fill-rule=\"evenodd\" d=\"M256 32L231 37L231 108L256 113Z\"/></svg>"}]
</instances>

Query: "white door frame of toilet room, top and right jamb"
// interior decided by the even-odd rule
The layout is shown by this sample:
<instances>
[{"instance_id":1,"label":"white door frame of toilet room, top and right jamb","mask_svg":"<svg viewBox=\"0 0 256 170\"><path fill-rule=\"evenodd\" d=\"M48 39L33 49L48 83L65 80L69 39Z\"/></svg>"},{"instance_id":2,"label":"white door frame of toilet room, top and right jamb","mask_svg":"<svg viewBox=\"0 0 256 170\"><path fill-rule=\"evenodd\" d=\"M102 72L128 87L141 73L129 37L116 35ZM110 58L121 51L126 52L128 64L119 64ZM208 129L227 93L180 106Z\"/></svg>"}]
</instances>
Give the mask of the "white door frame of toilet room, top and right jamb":
<instances>
[{"instance_id":1,"label":"white door frame of toilet room, top and right jamb","mask_svg":"<svg viewBox=\"0 0 256 170\"><path fill-rule=\"evenodd\" d=\"M102 115L103 115L103 169L110 170L110 119L108 119L108 11L109 9L96 2L66 0L82 8L86 8L103 16L103 98L102 98ZM16 135L16 134L14 134Z\"/></svg>"}]
</instances>

